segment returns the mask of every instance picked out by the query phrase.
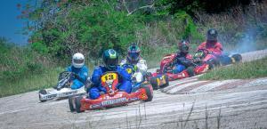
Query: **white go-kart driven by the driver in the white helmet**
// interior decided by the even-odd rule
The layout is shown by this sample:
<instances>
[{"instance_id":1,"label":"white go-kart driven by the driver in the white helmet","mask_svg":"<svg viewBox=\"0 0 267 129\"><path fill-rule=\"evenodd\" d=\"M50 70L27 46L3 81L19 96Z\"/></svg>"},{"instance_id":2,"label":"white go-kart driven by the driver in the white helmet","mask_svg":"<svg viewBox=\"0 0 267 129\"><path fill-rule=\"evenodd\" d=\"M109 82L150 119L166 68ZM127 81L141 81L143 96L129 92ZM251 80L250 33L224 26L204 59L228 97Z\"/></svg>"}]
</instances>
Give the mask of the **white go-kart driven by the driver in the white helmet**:
<instances>
[{"instance_id":1,"label":"white go-kart driven by the driver in the white helmet","mask_svg":"<svg viewBox=\"0 0 267 129\"><path fill-rule=\"evenodd\" d=\"M59 76L58 84L51 89L42 89L39 91L39 101L51 101L58 99L65 99L71 95L83 94L85 93L85 86L79 89L72 90L70 85L72 83L71 77L73 77L72 72L64 71L61 72Z\"/></svg>"}]
</instances>

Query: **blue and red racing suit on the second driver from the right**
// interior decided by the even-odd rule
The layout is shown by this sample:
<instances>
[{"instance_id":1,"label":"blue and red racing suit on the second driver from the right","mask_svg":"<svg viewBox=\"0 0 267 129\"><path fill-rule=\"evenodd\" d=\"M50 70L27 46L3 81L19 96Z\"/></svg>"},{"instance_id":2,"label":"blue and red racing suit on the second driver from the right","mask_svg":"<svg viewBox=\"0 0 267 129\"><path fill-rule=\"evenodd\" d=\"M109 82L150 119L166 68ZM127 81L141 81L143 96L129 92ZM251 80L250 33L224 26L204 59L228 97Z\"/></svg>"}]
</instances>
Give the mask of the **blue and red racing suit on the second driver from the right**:
<instances>
[{"instance_id":1,"label":"blue and red racing suit on the second driver from the right","mask_svg":"<svg viewBox=\"0 0 267 129\"><path fill-rule=\"evenodd\" d=\"M189 53L177 52L174 60L173 73L181 73L184 69L190 67L190 60L192 60L192 56Z\"/></svg>"}]
</instances>

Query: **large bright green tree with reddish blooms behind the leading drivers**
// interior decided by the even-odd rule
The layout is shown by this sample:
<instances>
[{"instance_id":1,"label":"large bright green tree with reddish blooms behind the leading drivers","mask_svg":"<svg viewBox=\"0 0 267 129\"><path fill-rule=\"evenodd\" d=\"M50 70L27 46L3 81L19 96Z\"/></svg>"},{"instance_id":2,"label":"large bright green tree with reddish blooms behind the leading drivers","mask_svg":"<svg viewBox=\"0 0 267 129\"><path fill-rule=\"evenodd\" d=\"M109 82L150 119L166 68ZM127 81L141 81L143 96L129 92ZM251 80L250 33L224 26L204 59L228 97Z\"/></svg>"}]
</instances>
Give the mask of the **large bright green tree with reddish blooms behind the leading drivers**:
<instances>
[{"instance_id":1,"label":"large bright green tree with reddish blooms behind the leading drivers","mask_svg":"<svg viewBox=\"0 0 267 129\"><path fill-rule=\"evenodd\" d=\"M82 6L77 1L44 4L27 18L37 26L30 39L32 48L61 59L83 52L96 60L107 48L124 54L126 46L136 39L136 29L143 26L135 22L135 15L118 12L115 1L92 1Z\"/></svg>"}]
</instances>

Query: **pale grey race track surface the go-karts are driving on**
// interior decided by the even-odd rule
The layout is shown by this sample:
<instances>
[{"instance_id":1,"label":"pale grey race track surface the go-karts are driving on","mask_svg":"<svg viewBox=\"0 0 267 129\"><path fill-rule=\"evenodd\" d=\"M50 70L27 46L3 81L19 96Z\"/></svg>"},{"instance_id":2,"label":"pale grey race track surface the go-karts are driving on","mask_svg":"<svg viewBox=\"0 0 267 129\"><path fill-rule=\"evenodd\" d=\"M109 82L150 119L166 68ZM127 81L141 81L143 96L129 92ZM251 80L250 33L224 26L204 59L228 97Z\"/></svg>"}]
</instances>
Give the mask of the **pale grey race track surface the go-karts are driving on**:
<instances>
[{"instance_id":1,"label":"pale grey race track surface the go-karts are driving on","mask_svg":"<svg viewBox=\"0 0 267 129\"><path fill-rule=\"evenodd\" d=\"M259 56L261 55L261 56ZM267 55L247 52L244 60ZM171 82L151 102L69 112L67 100L39 103L37 92L0 99L0 128L267 128L267 77Z\"/></svg>"}]
</instances>

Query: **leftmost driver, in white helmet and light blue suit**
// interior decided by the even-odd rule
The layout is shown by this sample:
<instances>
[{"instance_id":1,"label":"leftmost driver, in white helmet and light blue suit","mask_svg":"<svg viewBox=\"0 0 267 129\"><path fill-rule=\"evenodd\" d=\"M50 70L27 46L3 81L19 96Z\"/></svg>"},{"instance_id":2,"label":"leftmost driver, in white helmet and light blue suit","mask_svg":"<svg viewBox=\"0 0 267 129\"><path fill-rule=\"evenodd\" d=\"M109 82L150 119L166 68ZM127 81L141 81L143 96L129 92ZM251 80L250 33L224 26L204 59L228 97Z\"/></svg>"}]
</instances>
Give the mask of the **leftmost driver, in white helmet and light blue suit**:
<instances>
[{"instance_id":1,"label":"leftmost driver, in white helmet and light blue suit","mask_svg":"<svg viewBox=\"0 0 267 129\"><path fill-rule=\"evenodd\" d=\"M74 77L71 77L71 89L78 89L85 85L88 77L88 69L85 66L85 56L79 52L75 53L72 56L71 66L67 68L67 71L74 73Z\"/></svg>"}]
</instances>

